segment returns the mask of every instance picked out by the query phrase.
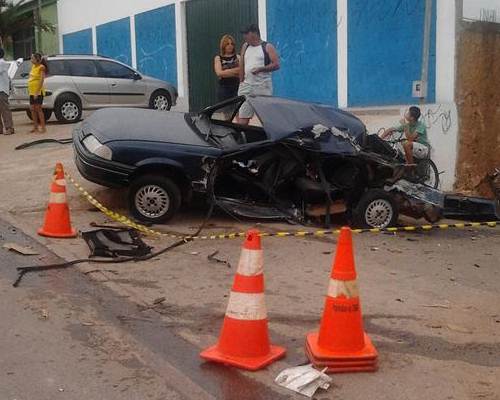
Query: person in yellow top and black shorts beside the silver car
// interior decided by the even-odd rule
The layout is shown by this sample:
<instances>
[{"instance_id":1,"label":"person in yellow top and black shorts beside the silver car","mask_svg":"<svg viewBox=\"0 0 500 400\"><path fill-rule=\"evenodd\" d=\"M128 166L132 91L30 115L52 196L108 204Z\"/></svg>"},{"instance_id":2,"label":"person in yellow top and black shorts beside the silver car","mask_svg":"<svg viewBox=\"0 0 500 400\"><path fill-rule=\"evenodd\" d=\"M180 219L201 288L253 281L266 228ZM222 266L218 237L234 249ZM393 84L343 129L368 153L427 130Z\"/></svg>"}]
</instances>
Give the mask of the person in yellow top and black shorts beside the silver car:
<instances>
[{"instance_id":1,"label":"person in yellow top and black shorts beside the silver car","mask_svg":"<svg viewBox=\"0 0 500 400\"><path fill-rule=\"evenodd\" d=\"M48 73L47 61L40 53L34 53L31 56L30 76L28 79L28 94L30 96L30 110L33 119L33 129L30 132L38 132L38 125L40 125L40 132L45 133L45 117L43 115L42 104L43 96L45 96L45 89L43 82Z\"/></svg>"}]
</instances>

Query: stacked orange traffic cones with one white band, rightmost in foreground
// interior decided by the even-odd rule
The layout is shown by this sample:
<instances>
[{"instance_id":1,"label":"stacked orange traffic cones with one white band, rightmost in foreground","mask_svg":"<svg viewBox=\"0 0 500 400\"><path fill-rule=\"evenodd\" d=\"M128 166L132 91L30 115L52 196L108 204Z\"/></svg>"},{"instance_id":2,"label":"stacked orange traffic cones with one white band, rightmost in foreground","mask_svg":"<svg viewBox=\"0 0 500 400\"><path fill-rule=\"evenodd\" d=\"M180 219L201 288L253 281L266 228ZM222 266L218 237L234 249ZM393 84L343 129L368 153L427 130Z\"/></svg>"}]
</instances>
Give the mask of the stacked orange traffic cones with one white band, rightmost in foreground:
<instances>
[{"instance_id":1,"label":"stacked orange traffic cones with one white band, rightmost in foreground","mask_svg":"<svg viewBox=\"0 0 500 400\"><path fill-rule=\"evenodd\" d=\"M363 329L349 228L340 232L319 333L307 335L306 355L328 372L377 369L377 350Z\"/></svg>"}]
</instances>

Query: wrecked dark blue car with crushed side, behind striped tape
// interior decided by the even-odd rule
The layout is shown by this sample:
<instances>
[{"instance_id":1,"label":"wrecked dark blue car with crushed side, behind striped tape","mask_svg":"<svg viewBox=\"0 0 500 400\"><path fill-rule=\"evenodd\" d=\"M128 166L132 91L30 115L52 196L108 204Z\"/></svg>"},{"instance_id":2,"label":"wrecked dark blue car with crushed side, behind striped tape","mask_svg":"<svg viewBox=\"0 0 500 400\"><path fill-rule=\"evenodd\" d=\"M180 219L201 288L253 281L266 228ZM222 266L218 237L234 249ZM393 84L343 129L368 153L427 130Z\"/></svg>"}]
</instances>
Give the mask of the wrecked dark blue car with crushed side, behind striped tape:
<instances>
[{"instance_id":1,"label":"wrecked dark blue car with crushed side, behind striped tape","mask_svg":"<svg viewBox=\"0 0 500 400\"><path fill-rule=\"evenodd\" d=\"M363 150L363 123L331 106L248 97L262 126L234 117L245 97L200 113L99 110L75 128L76 165L88 180L129 188L132 214L167 221L194 192L250 218L328 218L396 223L398 202L385 190L398 166Z\"/></svg>"}]
</instances>

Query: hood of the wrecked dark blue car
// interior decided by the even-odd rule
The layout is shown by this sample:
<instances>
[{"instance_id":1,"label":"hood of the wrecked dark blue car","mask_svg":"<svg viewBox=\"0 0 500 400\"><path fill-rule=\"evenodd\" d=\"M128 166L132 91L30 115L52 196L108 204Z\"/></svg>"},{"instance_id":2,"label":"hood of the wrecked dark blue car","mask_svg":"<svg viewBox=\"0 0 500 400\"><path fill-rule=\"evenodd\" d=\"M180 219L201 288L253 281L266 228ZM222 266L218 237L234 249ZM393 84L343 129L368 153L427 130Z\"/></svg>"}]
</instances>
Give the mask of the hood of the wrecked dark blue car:
<instances>
[{"instance_id":1,"label":"hood of the wrecked dark blue car","mask_svg":"<svg viewBox=\"0 0 500 400\"><path fill-rule=\"evenodd\" d=\"M137 108L107 108L94 112L82 124L84 134L92 133L101 143L141 140L210 146L187 124L184 114Z\"/></svg>"}]
</instances>

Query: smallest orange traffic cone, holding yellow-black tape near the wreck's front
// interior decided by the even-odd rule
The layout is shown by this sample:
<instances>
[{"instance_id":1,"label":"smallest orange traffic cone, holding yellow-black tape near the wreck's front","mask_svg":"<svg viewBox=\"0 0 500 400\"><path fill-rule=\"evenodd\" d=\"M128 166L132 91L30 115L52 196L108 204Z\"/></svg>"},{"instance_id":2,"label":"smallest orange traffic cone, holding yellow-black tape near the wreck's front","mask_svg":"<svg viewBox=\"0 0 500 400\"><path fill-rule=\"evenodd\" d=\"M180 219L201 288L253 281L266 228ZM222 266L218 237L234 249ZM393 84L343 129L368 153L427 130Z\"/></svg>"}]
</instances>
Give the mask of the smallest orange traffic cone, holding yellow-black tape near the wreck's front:
<instances>
[{"instance_id":1,"label":"smallest orange traffic cone, holding yellow-black tape near the wreck's front","mask_svg":"<svg viewBox=\"0 0 500 400\"><path fill-rule=\"evenodd\" d=\"M66 199L66 180L61 163L56 164L52 184L50 186L49 205L45 213L45 223L38 230L42 236L69 238L76 236L71 227L69 207Z\"/></svg>"}]
</instances>

